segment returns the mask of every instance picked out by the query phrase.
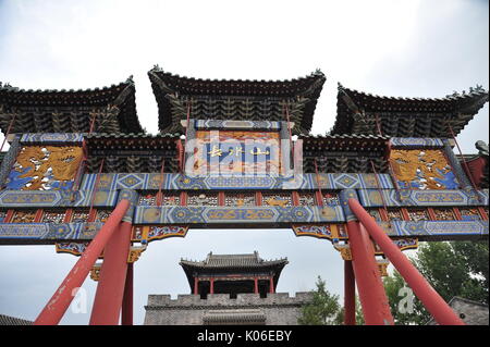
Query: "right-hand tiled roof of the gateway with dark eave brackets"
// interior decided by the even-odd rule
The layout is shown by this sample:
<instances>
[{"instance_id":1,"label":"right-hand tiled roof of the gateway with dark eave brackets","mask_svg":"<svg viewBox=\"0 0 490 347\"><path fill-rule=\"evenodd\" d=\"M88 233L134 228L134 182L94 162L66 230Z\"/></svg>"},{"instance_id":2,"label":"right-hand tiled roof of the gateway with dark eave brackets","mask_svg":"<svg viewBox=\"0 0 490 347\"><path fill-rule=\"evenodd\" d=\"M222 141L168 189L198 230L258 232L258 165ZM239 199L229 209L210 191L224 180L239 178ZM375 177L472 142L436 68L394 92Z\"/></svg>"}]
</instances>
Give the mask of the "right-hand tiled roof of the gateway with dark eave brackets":
<instances>
[{"instance_id":1,"label":"right-hand tiled roof of the gateway with dark eave brackets","mask_svg":"<svg viewBox=\"0 0 490 347\"><path fill-rule=\"evenodd\" d=\"M488 102L488 90L476 88L440 99L395 98L339 84L338 113L331 134L446 138L451 137L448 125L457 135Z\"/></svg>"}]
</instances>

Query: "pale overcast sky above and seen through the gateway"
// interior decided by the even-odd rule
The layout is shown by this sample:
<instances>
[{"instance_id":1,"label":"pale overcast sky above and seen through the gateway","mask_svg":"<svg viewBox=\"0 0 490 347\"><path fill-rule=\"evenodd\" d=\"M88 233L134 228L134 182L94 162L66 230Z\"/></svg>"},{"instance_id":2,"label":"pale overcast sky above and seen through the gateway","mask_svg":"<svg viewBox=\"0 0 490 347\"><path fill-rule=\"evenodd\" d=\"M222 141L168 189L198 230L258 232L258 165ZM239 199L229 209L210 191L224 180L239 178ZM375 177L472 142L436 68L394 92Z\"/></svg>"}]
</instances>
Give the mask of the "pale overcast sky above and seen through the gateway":
<instances>
[{"instance_id":1,"label":"pale overcast sky above and seen through the gateway","mask_svg":"<svg viewBox=\"0 0 490 347\"><path fill-rule=\"evenodd\" d=\"M136 5L137 3L137 5ZM444 97L489 88L489 3L431 1L10 1L0 0L0 80L25 89L95 88L134 75L139 120L158 129L148 70L201 78L327 75L313 133L335 117L336 83L371 94ZM489 141L488 104L458 136L465 152ZM0 140L2 140L0 136ZM309 290L317 275L342 296L343 262L329 241L292 231L189 231L151 243L135 264L135 324L148 294L188 294L179 260L258 250L287 257L278 292ZM0 313L34 320L77 258L54 246L0 248ZM63 324L87 324L88 312Z\"/></svg>"}]
</instances>

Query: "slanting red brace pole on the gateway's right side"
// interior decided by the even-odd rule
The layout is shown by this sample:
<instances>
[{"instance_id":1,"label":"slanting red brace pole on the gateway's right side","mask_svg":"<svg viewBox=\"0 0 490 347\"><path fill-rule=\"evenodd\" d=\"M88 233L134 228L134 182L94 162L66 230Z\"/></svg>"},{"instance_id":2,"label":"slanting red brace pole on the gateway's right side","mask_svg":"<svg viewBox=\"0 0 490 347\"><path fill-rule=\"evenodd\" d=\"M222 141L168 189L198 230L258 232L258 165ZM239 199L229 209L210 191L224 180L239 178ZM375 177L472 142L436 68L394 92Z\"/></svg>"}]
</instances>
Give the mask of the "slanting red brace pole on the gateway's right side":
<instances>
[{"instance_id":1,"label":"slanting red brace pole on the gateway's right side","mask_svg":"<svg viewBox=\"0 0 490 347\"><path fill-rule=\"evenodd\" d=\"M366 226L369 235L378 244L379 248L390 259L400 274L405 278L408 286L420 299L427 310L439 324L462 325L464 322L454 313L451 307L432 288L427 280L418 272L412 262L392 243L384 231L366 212L366 210L354 199L348 199L348 207L359 221Z\"/></svg>"}]
</instances>

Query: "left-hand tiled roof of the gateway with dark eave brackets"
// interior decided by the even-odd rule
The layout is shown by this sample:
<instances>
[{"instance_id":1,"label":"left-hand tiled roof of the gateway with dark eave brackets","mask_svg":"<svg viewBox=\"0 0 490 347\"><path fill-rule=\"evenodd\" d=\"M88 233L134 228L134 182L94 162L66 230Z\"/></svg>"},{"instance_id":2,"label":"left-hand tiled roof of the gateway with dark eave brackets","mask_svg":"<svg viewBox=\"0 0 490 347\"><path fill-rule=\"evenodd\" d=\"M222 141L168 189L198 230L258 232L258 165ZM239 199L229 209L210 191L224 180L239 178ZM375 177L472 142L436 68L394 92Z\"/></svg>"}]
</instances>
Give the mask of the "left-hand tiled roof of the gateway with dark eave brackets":
<instances>
[{"instance_id":1,"label":"left-hand tiled roof of the gateway with dark eave brackets","mask_svg":"<svg viewBox=\"0 0 490 347\"><path fill-rule=\"evenodd\" d=\"M143 133L130 77L110 87L78 90L20 89L0 84L0 128L7 133Z\"/></svg>"}]
</instances>

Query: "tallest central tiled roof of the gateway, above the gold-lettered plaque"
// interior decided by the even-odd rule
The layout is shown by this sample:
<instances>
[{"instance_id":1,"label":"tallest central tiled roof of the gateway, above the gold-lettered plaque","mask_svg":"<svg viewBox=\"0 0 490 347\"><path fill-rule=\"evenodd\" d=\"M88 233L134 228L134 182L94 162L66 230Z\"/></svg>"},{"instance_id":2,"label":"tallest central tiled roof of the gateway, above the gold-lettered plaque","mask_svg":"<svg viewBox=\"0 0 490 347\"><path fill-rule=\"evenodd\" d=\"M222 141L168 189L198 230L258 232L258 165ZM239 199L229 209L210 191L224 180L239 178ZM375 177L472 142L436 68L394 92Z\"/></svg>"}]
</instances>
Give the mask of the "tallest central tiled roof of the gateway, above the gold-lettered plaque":
<instances>
[{"instance_id":1,"label":"tallest central tiled roof of the gateway, above the gold-lettered plaque","mask_svg":"<svg viewBox=\"0 0 490 347\"><path fill-rule=\"evenodd\" d=\"M181 77L155 66L148 72L162 132L183 132L181 120L285 121L289 103L293 132L309 132L326 76L315 73L289 80L201 79Z\"/></svg>"}]
</instances>

